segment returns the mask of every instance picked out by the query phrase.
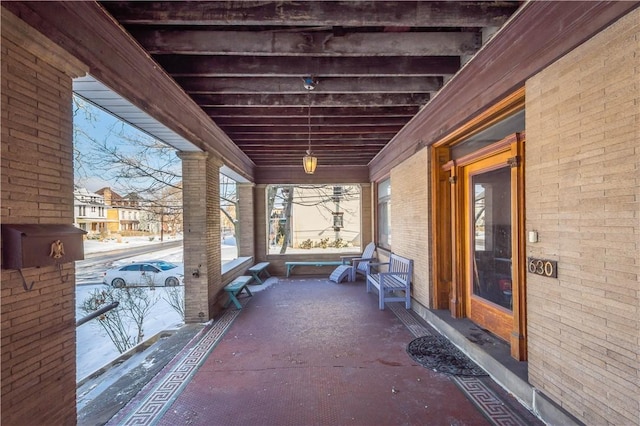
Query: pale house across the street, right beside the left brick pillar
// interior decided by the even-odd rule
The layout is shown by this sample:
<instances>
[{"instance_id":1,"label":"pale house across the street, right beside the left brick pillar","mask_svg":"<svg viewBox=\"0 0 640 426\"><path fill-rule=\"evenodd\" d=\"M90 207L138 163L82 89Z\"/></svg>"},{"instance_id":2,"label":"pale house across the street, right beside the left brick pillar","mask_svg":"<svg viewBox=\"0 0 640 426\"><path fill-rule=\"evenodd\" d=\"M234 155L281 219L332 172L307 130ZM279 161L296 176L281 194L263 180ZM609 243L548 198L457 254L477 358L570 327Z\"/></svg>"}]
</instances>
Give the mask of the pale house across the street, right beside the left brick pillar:
<instances>
[{"instance_id":1,"label":"pale house across the street, right beside the left brick pillar","mask_svg":"<svg viewBox=\"0 0 640 426\"><path fill-rule=\"evenodd\" d=\"M76 188L73 192L75 225L88 232L88 235L108 232L110 224L117 221L111 218L111 208L105 204L104 197L86 188Z\"/></svg>"}]
</instances>

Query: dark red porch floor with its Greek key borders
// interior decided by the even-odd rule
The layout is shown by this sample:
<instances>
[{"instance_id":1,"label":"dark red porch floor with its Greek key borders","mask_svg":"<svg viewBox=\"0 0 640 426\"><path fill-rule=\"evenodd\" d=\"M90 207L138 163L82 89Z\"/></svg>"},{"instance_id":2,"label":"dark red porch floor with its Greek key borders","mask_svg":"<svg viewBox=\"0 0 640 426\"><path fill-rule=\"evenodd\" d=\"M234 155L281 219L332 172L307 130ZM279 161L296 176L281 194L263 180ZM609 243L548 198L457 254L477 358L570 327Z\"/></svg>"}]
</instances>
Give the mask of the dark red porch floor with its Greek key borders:
<instances>
[{"instance_id":1,"label":"dark red porch floor with its Greek key borders","mask_svg":"<svg viewBox=\"0 0 640 426\"><path fill-rule=\"evenodd\" d=\"M380 311L362 281L250 289L109 424L542 424L488 377L413 361L407 344L435 331L400 303Z\"/></svg>"}]
</instances>

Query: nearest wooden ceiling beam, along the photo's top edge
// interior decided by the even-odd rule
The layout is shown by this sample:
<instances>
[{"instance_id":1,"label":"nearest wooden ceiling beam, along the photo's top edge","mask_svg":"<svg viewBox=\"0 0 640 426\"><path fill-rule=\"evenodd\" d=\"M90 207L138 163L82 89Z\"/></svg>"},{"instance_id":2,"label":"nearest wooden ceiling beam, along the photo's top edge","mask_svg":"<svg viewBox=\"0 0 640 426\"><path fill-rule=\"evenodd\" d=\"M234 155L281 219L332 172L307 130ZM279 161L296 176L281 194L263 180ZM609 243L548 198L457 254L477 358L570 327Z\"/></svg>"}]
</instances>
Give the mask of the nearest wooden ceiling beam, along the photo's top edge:
<instances>
[{"instance_id":1,"label":"nearest wooden ceiling beam, along the photo's top edge","mask_svg":"<svg viewBox=\"0 0 640 426\"><path fill-rule=\"evenodd\" d=\"M500 26L517 1L102 2L125 25Z\"/></svg>"}]
</instances>

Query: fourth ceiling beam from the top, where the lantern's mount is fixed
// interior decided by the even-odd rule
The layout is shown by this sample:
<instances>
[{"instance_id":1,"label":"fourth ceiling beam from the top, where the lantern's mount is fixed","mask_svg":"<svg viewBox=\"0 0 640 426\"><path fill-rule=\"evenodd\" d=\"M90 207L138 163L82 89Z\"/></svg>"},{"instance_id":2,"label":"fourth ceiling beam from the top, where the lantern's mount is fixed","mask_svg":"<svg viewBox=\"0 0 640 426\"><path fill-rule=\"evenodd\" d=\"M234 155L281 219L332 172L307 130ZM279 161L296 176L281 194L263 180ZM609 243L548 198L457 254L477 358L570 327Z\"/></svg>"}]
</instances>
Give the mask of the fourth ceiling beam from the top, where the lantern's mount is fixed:
<instances>
[{"instance_id":1,"label":"fourth ceiling beam from the top, where the lantern's mount is fixed","mask_svg":"<svg viewBox=\"0 0 640 426\"><path fill-rule=\"evenodd\" d=\"M323 77L314 76L314 93L435 93L442 77ZM213 93L302 94L302 76L297 77L177 77L176 82L190 95Z\"/></svg>"}]
</instances>

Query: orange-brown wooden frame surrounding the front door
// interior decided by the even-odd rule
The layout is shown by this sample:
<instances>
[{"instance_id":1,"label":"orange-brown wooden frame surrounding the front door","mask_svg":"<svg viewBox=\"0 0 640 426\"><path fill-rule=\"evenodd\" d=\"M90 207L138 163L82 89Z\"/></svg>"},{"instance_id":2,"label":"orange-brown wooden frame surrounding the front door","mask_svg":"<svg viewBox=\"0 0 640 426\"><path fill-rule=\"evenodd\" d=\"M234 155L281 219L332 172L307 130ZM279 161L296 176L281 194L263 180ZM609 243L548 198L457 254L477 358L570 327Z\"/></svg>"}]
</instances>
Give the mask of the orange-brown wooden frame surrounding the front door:
<instances>
[{"instance_id":1,"label":"orange-brown wooden frame surrounding the front door","mask_svg":"<svg viewBox=\"0 0 640 426\"><path fill-rule=\"evenodd\" d=\"M431 211L433 214L432 251L433 308L448 309L454 318L466 316L468 298L464 294L465 244L463 229L464 191L461 168L500 150L510 152L513 248L513 323L509 336L511 356L527 359L526 333L526 265L525 265L525 203L524 203L524 141L525 133L513 134L472 154L451 160L450 149L465 138L478 133L506 117L524 109L524 87L507 96L492 108L432 146ZM517 291L515 290L517 286Z\"/></svg>"}]
</instances>

